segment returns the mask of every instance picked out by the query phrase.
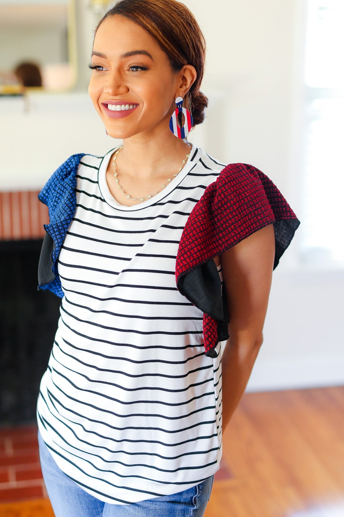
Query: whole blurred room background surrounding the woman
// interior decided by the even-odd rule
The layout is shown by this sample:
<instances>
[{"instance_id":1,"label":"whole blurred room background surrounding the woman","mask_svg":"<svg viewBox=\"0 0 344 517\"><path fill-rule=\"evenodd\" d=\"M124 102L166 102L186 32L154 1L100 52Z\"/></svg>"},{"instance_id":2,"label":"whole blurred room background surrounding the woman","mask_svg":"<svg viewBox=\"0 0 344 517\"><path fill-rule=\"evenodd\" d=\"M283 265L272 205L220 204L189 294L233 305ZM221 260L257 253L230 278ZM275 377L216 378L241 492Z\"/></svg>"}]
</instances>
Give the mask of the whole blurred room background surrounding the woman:
<instances>
[{"instance_id":1,"label":"whole blurred room background surrounding the woman","mask_svg":"<svg viewBox=\"0 0 344 517\"><path fill-rule=\"evenodd\" d=\"M273 273L264 344L224 435L217 502L211 498L206 515L221 515L228 505L231 515L249 517L344 515L343 507L287 513L341 498L344 490L344 2L183 3L207 41L201 89L209 107L189 140L224 163L255 165L301 221ZM46 498L37 451L36 460L20 463L13 446L36 447L39 383L60 307L59 298L37 291L42 225L49 222L37 194L70 155L102 155L119 143L106 136L87 93L93 29L112 5L0 0L0 503ZM249 494L253 465L269 454L280 473L290 461L292 475L273 495L256 485ZM36 484L30 478L23 496L28 489L18 472L29 478L27 465L36 465ZM263 471L270 486L278 476L266 464ZM247 503L253 495L257 512Z\"/></svg>"}]
</instances>

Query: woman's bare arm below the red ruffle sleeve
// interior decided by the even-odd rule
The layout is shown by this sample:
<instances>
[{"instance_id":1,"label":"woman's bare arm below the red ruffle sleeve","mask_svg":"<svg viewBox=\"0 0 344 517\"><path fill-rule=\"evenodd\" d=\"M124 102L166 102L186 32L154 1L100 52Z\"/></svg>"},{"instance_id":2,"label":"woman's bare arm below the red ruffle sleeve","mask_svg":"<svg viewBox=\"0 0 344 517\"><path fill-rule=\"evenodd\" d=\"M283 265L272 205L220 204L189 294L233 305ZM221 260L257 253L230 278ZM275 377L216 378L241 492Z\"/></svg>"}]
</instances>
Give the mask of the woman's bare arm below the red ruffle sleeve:
<instances>
[{"instance_id":1,"label":"woman's bare arm below the red ruffle sleeve","mask_svg":"<svg viewBox=\"0 0 344 517\"><path fill-rule=\"evenodd\" d=\"M222 355L223 432L243 396L263 343L274 255L272 223L220 255L230 316L230 338Z\"/></svg>"}]
</instances>

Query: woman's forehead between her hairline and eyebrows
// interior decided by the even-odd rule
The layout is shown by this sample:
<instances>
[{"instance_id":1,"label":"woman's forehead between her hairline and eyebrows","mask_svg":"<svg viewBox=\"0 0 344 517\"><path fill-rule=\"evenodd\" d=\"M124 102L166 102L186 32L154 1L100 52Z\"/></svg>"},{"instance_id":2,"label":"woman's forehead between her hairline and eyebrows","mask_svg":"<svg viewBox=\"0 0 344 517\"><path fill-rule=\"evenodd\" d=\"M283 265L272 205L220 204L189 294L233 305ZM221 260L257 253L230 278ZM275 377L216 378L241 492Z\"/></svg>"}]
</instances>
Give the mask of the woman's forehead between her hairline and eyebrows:
<instances>
[{"instance_id":1,"label":"woman's forehead between her hairline and eyebrows","mask_svg":"<svg viewBox=\"0 0 344 517\"><path fill-rule=\"evenodd\" d=\"M154 59L165 54L148 31L118 14L106 18L94 37L93 50L97 52L118 55L136 49L150 52Z\"/></svg>"}]
</instances>

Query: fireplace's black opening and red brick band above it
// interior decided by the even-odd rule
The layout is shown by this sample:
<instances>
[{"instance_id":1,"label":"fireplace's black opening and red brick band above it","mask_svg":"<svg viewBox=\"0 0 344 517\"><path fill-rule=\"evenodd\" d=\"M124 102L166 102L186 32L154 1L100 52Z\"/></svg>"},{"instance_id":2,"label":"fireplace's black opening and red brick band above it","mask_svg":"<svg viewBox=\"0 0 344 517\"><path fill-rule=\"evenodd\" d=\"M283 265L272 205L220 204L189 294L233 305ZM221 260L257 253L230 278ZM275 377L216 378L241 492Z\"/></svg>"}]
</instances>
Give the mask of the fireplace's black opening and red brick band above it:
<instances>
[{"instance_id":1,"label":"fireplace's black opening and red brick band above it","mask_svg":"<svg viewBox=\"0 0 344 517\"><path fill-rule=\"evenodd\" d=\"M37 291L49 222L38 190L0 192L0 426L36 423L61 299Z\"/></svg>"}]
</instances>

